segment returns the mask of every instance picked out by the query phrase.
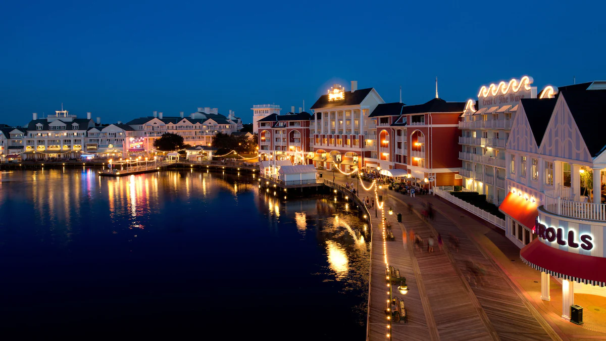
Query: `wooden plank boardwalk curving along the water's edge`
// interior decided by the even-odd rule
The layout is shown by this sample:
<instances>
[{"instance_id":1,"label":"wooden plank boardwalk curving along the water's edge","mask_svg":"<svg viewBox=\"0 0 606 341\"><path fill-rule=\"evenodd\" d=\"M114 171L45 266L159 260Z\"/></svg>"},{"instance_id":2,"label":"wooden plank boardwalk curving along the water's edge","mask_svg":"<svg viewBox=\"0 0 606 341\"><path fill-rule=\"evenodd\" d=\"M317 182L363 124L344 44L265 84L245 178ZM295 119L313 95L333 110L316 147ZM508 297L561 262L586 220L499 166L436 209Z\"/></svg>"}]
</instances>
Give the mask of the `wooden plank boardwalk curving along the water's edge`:
<instances>
[{"instance_id":1,"label":"wooden plank boardwalk curving along the water's edge","mask_svg":"<svg viewBox=\"0 0 606 341\"><path fill-rule=\"evenodd\" d=\"M331 178L324 171L324 177ZM351 182L350 177L336 174L336 181ZM368 186L369 183L366 183ZM372 197L360 186L361 198ZM606 339L601 326L577 326L565 322L552 301L540 300L538 271L519 260L519 248L513 245L501 231L493 229L473 215L433 195L411 198L386 187L379 190L384 196L385 209L392 208L393 215L385 215L392 226L395 241L387 242L388 262L400 269L406 277L407 295L395 294L404 299L408 323L392 323L392 340L588 340ZM436 209L435 220L426 223L420 211L422 203L431 202ZM406 204L415 209L408 214ZM385 303L387 303L384 263L382 262L381 213L373 217L373 263L370 302L370 340L385 340ZM396 214L402 214L402 223ZM397 233L396 231L401 231ZM405 232L435 241L435 251L415 250ZM444 248L438 248L437 236L442 235ZM458 250L450 243L452 234L459 240ZM376 247L377 240L380 241ZM476 263L485 270L481 282L474 282L468 262ZM381 272L382 271L382 272ZM377 288L373 291L373 288ZM557 292L557 288L553 292ZM395 291L397 292L397 290ZM375 294L378 295L375 298ZM376 305L379 305L377 307ZM561 306L561 301L559 303Z\"/></svg>"}]
</instances>

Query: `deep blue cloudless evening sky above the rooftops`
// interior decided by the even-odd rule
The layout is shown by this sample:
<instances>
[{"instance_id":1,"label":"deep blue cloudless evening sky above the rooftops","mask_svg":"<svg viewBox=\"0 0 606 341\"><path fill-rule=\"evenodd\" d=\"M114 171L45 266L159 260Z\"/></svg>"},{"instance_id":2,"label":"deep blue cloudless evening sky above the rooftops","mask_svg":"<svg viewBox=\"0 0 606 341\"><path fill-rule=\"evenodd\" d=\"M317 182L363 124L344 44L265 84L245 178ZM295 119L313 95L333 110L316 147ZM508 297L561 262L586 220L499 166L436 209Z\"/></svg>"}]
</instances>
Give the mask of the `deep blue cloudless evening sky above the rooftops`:
<instances>
[{"instance_id":1,"label":"deep blue cloudless evening sky above the rooftops","mask_svg":"<svg viewBox=\"0 0 606 341\"><path fill-rule=\"evenodd\" d=\"M309 108L332 83L385 101L476 98L606 79L605 1L4 1L0 123L64 107L104 123L196 107L251 121Z\"/></svg>"}]
</instances>

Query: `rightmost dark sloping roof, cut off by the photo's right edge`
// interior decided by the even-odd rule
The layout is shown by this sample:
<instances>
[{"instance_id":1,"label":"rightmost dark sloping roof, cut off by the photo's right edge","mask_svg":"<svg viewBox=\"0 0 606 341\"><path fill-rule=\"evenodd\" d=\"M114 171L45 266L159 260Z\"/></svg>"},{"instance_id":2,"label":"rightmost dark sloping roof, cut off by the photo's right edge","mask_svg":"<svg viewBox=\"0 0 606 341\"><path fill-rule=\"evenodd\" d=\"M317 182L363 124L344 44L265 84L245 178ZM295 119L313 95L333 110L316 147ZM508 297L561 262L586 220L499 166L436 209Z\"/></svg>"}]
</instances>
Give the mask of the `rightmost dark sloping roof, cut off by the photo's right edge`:
<instances>
[{"instance_id":1,"label":"rightmost dark sloping roof, cut off by the photo's right edge","mask_svg":"<svg viewBox=\"0 0 606 341\"><path fill-rule=\"evenodd\" d=\"M560 95L564 96L591 156L598 156L606 146L604 125L600 124L606 116L606 90L564 90Z\"/></svg>"}]
</instances>

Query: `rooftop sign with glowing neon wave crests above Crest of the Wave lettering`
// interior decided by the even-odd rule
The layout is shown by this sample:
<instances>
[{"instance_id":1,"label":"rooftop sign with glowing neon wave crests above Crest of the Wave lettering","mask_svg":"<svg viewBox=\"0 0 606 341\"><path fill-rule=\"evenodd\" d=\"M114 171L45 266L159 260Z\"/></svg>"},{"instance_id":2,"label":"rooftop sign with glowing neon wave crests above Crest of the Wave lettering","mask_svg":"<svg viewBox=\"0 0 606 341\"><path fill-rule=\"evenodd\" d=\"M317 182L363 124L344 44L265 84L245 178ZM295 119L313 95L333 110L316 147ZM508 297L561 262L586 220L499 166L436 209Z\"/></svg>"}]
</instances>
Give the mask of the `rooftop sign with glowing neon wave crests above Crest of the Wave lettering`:
<instances>
[{"instance_id":1,"label":"rooftop sign with glowing neon wave crests above Crest of the Wave lettering","mask_svg":"<svg viewBox=\"0 0 606 341\"><path fill-rule=\"evenodd\" d=\"M536 87L530 86L533 78L524 76L521 79L511 79L508 82L482 86L478 93L478 109L495 106L516 106L522 98L534 98Z\"/></svg>"}]
</instances>

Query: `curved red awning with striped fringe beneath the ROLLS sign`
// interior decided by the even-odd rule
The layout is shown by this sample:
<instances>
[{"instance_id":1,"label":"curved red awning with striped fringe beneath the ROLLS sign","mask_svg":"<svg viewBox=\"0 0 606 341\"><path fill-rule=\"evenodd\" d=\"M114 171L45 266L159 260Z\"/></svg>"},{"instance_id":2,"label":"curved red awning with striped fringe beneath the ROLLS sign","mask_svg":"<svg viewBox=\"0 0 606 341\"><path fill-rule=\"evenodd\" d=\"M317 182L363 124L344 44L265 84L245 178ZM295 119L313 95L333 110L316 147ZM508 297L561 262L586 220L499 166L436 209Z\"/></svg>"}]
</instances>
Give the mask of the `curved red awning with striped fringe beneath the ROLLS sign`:
<instances>
[{"instance_id":1,"label":"curved red awning with striped fringe beneath the ROLLS sign","mask_svg":"<svg viewBox=\"0 0 606 341\"><path fill-rule=\"evenodd\" d=\"M520 251L520 258L531 268L574 282L606 286L606 258L574 254L552 248L539 238Z\"/></svg>"}]
</instances>

